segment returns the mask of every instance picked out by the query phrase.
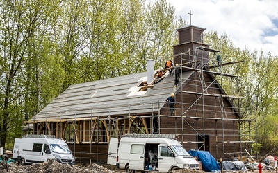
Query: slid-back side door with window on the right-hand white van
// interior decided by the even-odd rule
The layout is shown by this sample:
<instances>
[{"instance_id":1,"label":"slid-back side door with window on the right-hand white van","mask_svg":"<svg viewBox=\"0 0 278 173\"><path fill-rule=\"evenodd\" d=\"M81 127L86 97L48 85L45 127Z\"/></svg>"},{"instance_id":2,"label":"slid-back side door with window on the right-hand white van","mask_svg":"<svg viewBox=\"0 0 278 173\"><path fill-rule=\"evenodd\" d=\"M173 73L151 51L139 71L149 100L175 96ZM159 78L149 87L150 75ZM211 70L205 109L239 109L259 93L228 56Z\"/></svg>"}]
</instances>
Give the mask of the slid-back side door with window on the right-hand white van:
<instances>
[{"instance_id":1,"label":"slid-back side door with window on the right-hand white van","mask_svg":"<svg viewBox=\"0 0 278 173\"><path fill-rule=\"evenodd\" d=\"M132 144L129 156L130 170L144 170L145 144Z\"/></svg>"}]
</instances>

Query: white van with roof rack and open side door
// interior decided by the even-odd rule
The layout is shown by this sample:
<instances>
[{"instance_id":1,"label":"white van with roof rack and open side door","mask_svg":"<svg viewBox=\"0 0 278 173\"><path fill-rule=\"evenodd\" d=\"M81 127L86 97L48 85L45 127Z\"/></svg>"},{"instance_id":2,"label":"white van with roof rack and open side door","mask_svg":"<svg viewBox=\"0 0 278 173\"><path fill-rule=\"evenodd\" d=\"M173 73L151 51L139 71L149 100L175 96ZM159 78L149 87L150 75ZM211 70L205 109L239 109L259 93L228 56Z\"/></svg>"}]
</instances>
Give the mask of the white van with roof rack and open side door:
<instances>
[{"instance_id":1,"label":"white van with roof rack and open side door","mask_svg":"<svg viewBox=\"0 0 278 173\"><path fill-rule=\"evenodd\" d=\"M118 145L111 138L107 163L126 172L170 172L178 169L199 170L199 163L186 149L167 134L126 134ZM119 146L119 147L118 147Z\"/></svg>"}]
</instances>

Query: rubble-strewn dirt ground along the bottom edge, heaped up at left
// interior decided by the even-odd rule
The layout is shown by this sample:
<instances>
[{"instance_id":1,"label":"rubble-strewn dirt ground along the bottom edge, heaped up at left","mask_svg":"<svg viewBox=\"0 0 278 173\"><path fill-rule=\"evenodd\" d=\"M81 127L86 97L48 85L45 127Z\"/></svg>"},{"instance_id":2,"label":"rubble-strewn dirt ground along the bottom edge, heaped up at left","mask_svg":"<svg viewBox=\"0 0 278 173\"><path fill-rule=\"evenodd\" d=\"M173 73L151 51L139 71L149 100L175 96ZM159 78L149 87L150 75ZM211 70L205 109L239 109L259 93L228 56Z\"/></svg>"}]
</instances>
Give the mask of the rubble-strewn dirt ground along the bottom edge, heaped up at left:
<instances>
[{"instance_id":1,"label":"rubble-strewn dirt ground along the bottom edge, heaped up at left","mask_svg":"<svg viewBox=\"0 0 278 173\"><path fill-rule=\"evenodd\" d=\"M6 167L8 166L8 167ZM61 164L54 160L47 161L44 163L33 164L33 165L17 165L17 163L9 163L6 165L3 161L0 161L0 173L2 172L20 172L20 173L50 173L50 172L66 172L66 173L118 173L124 172L124 170L119 170L113 165L98 165L93 163L92 165L88 166L81 166L81 165L67 165ZM202 170L175 170L173 173L183 173L183 172L202 172ZM227 172L227 171L224 171ZM229 172L243 172L243 171L229 171ZM259 172L258 170L247 170L245 172ZM263 172L275 172L269 170L263 170ZM136 172L138 173L138 172Z\"/></svg>"}]
</instances>

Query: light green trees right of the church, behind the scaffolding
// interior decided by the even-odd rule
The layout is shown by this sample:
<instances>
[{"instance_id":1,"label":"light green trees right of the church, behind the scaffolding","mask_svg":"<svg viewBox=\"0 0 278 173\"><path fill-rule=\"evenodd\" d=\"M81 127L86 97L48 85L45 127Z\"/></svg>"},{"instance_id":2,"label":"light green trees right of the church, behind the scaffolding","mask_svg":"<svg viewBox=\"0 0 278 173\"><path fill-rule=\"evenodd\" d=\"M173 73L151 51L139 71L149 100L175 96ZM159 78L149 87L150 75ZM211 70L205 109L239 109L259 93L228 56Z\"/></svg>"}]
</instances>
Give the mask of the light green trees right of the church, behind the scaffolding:
<instances>
[{"instance_id":1,"label":"light green trees right of the church, behind the scaffolding","mask_svg":"<svg viewBox=\"0 0 278 173\"><path fill-rule=\"evenodd\" d=\"M216 31L206 35L206 42L221 51L223 64L240 62L229 66L222 66L224 71L237 75L238 78L218 78L218 82L228 95L243 96L240 100L232 100L243 119L254 119L249 126L241 122L242 137L254 140L261 145L261 152L270 152L276 147L277 134L277 57L263 51L250 51L248 48L236 48L227 34L218 36ZM212 56L214 57L214 56ZM216 58L215 58L216 59ZM241 62L243 61L243 62ZM211 60L215 63L215 60Z\"/></svg>"}]
</instances>

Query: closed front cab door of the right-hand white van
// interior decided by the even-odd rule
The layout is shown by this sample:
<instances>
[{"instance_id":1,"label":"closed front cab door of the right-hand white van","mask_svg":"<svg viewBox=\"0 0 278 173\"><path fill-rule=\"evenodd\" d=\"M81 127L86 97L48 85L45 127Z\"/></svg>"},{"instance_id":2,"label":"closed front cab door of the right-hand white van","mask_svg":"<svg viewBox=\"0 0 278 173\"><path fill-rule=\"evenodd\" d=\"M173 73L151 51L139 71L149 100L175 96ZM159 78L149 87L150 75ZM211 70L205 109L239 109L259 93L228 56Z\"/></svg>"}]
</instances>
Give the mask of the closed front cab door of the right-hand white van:
<instances>
[{"instance_id":1,"label":"closed front cab door of the right-hand white van","mask_svg":"<svg viewBox=\"0 0 278 173\"><path fill-rule=\"evenodd\" d=\"M168 172L174 164L174 152L167 145L159 145L158 149L158 170Z\"/></svg>"}]
</instances>

